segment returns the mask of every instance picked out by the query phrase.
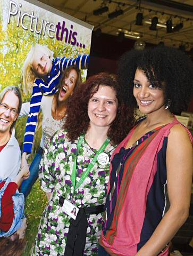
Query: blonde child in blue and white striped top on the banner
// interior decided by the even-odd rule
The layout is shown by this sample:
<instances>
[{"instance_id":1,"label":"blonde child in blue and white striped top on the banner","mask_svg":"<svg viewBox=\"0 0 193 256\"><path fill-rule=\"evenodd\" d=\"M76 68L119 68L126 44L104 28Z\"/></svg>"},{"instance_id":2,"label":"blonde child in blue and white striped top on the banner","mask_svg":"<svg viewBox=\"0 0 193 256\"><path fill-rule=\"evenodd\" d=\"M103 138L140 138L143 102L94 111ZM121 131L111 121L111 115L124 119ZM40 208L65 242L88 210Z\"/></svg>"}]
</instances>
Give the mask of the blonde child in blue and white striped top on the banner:
<instances>
[{"instance_id":1,"label":"blonde child in blue and white striped top on the banner","mask_svg":"<svg viewBox=\"0 0 193 256\"><path fill-rule=\"evenodd\" d=\"M32 150L43 95L56 93L65 68L75 65L80 69L87 69L88 62L88 54L79 55L73 59L66 57L54 59L53 52L46 46L36 44L31 47L22 68L24 92L31 93L32 91L30 113L24 134L22 166L27 164L26 155Z\"/></svg>"}]
</instances>

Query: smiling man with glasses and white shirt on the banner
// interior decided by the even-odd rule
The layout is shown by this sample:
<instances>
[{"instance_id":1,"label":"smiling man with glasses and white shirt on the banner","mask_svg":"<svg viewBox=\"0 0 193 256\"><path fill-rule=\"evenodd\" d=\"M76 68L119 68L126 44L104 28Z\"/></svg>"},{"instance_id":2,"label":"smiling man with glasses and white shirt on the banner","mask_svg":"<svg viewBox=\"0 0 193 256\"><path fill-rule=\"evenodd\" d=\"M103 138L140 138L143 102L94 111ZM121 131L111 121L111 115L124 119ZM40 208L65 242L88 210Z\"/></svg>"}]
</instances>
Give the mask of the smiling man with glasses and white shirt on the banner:
<instances>
[{"instance_id":1,"label":"smiling man with glasses and white shirt on the banner","mask_svg":"<svg viewBox=\"0 0 193 256\"><path fill-rule=\"evenodd\" d=\"M0 178L14 178L21 164L21 151L15 139L14 125L21 109L21 93L7 86L0 94Z\"/></svg>"}]
</instances>

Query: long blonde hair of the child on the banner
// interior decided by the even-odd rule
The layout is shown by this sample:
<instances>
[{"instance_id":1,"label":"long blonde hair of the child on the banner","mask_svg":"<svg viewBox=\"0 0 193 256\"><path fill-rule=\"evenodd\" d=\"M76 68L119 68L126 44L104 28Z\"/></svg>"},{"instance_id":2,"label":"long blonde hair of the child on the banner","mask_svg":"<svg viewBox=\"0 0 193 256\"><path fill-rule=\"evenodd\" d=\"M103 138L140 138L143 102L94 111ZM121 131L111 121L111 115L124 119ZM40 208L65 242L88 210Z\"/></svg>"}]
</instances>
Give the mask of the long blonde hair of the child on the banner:
<instances>
[{"instance_id":1,"label":"long blonde hair of the child on the banner","mask_svg":"<svg viewBox=\"0 0 193 256\"><path fill-rule=\"evenodd\" d=\"M53 60L53 51L49 50L48 47L41 45L41 44L35 44L35 46L32 46L26 60L23 63L22 67L22 79L23 79L23 91L26 94L31 94L32 92L32 86L33 82L35 81L35 78L37 78L36 73L32 69L32 63L38 54L46 54L51 60Z\"/></svg>"}]
</instances>

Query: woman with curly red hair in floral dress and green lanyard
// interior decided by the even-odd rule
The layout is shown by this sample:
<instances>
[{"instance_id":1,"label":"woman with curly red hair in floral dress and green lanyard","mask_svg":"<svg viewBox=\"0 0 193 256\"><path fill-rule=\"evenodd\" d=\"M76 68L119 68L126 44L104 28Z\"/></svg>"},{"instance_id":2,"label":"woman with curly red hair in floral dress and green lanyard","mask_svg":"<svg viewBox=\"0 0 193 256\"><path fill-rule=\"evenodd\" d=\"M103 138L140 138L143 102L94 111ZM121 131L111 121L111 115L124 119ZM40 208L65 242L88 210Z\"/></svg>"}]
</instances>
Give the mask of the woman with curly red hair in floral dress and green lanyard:
<instances>
[{"instance_id":1,"label":"woman with curly red hair in floral dress and green lanyard","mask_svg":"<svg viewBox=\"0 0 193 256\"><path fill-rule=\"evenodd\" d=\"M32 255L97 255L110 158L132 118L118 84L100 73L77 87L40 163L41 188L53 193ZM74 214L75 213L75 214Z\"/></svg>"}]
</instances>

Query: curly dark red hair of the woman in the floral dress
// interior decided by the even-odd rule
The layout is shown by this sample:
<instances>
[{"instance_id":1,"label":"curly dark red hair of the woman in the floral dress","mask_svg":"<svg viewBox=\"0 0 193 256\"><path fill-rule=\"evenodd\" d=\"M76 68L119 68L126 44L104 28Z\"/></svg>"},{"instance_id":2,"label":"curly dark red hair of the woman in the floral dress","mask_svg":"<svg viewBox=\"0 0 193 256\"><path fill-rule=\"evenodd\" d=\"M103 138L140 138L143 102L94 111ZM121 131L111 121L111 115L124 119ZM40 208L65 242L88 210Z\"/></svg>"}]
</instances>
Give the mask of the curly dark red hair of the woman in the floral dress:
<instances>
[{"instance_id":1,"label":"curly dark red hair of the woman in the floral dress","mask_svg":"<svg viewBox=\"0 0 193 256\"><path fill-rule=\"evenodd\" d=\"M82 133L86 133L89 127L88 101L99 89L99 86L110 86L116 93L118 99L118 111L112 122L107 136L112 145L117 145L128 134L133 126L134 119L127 104L123 101L122 92L114 76L107 73L99 73L91 76L85 83L80 84L72 94L67 108L64 129L68 132L71 141L77 139Z\"/></svg>"}]
</instances>

